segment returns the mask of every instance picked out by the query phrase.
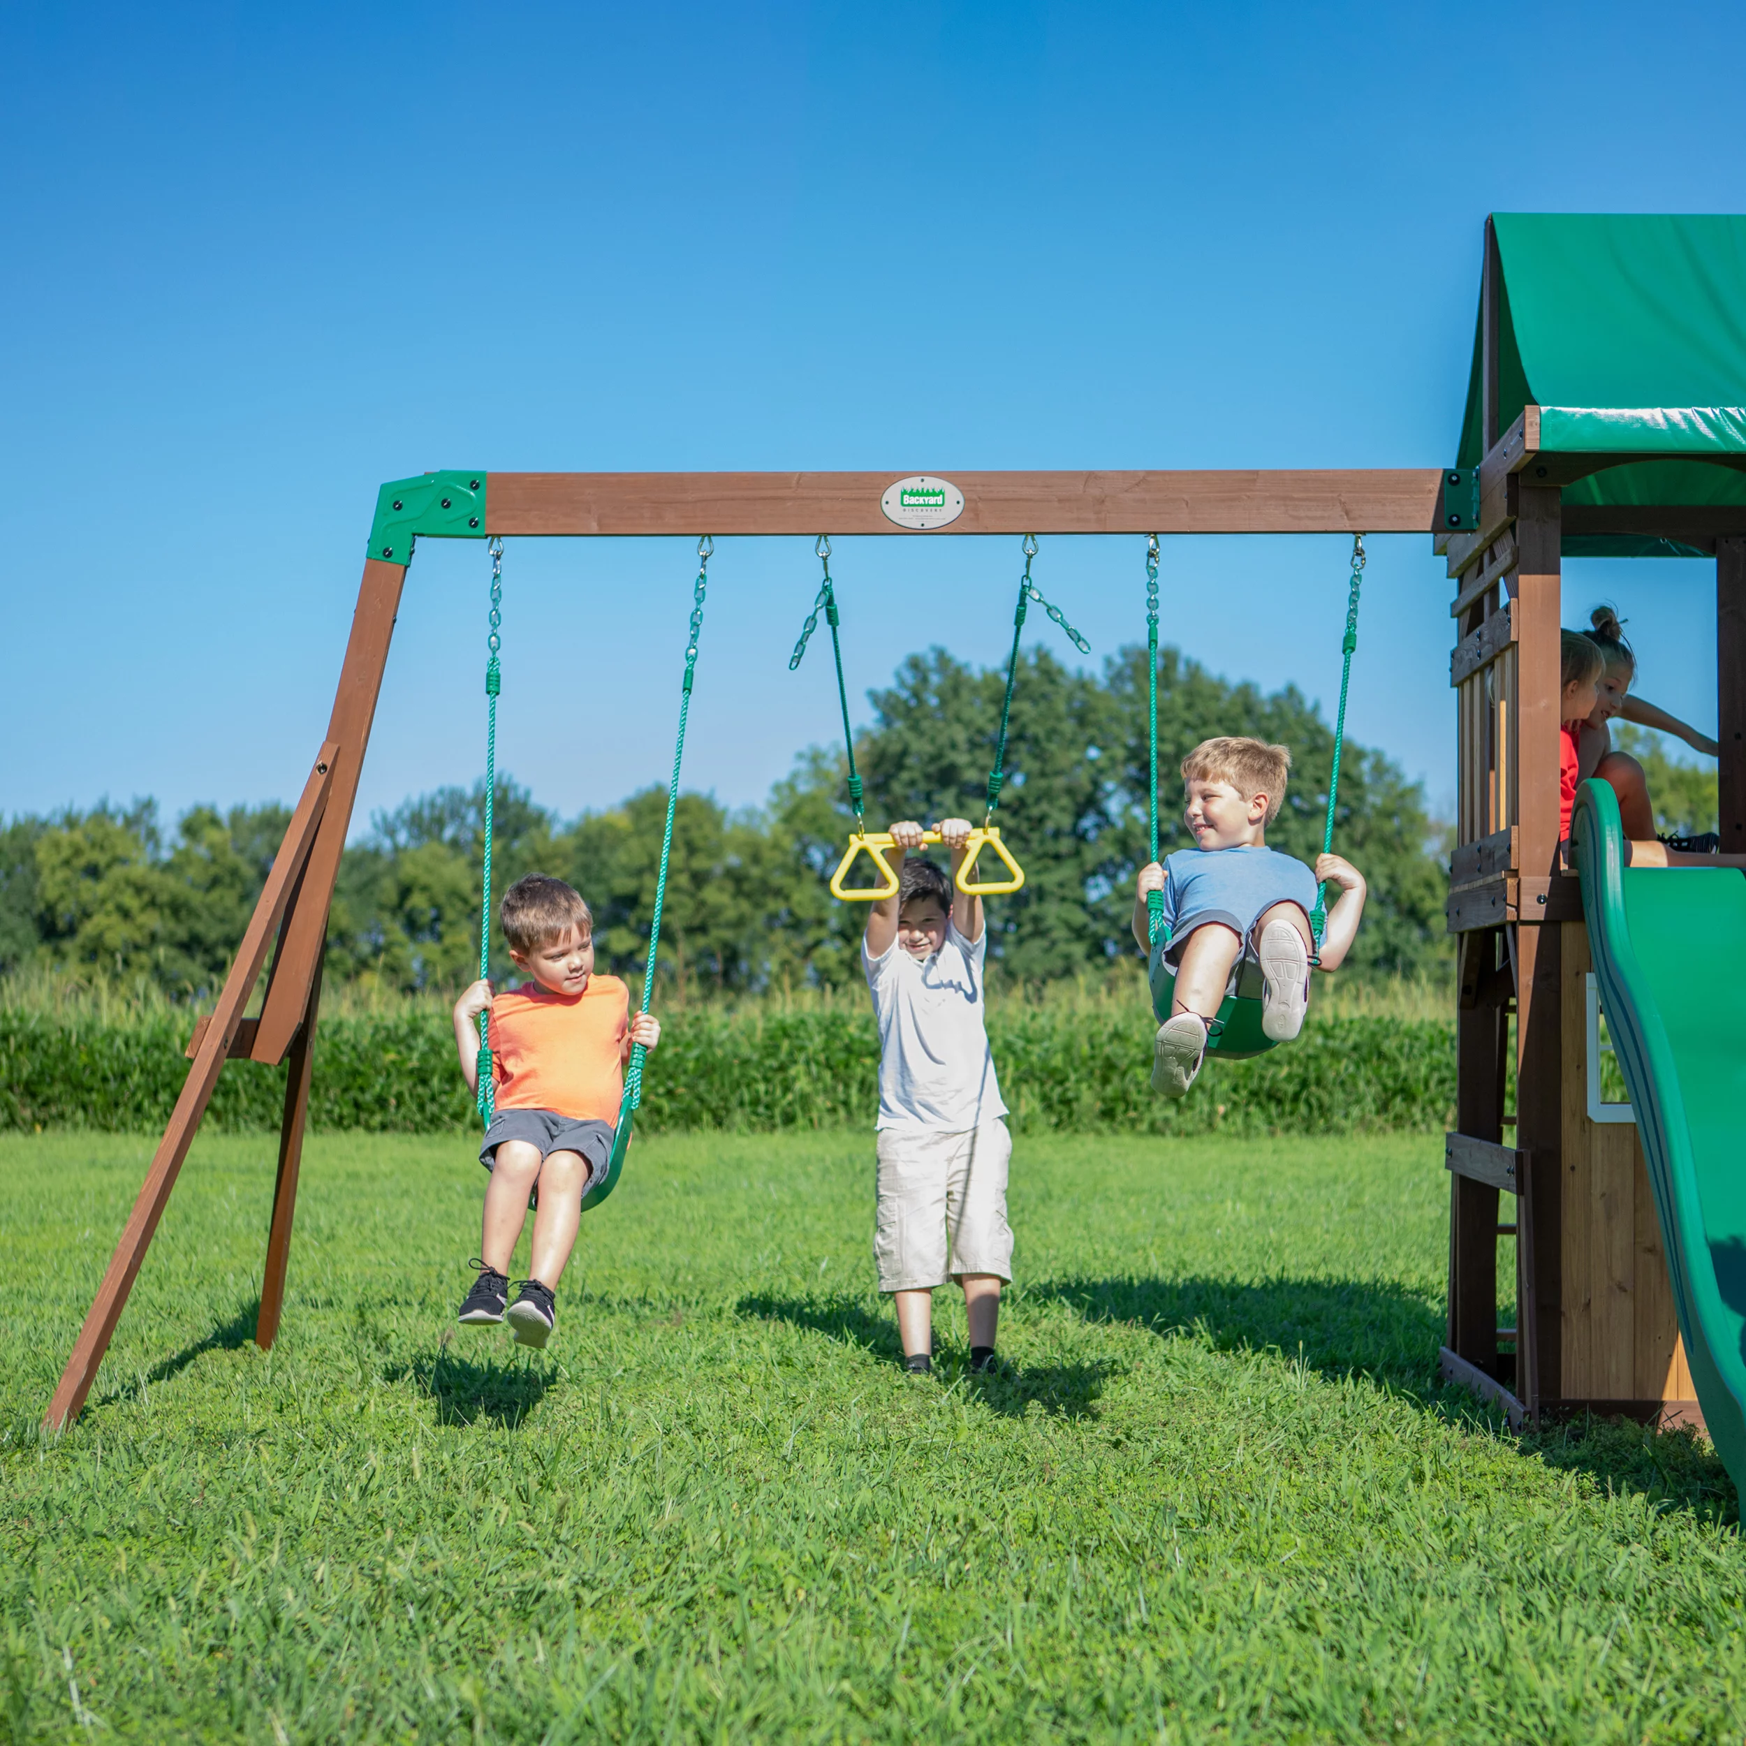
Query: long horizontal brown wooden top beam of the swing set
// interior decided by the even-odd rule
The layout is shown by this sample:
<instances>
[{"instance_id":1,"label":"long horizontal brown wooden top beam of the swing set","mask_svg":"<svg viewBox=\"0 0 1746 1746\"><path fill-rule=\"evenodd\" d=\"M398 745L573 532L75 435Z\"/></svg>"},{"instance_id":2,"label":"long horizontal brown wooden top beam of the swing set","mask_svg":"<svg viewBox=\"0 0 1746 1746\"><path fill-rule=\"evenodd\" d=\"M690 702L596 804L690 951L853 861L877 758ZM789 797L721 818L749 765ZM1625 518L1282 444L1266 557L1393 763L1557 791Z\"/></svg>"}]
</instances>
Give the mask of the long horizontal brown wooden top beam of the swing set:
<instances>
[{"instance_id":1,"label":"long horizontal brown wooden top beam of the swing set","mask_svg":"<svg viewBox=\"0 0 1746 1746\"><path fill-rule=\"evenodd\" d=\"M491 473L491 534L901 534L903 473ZM939 473L952 534L1428 534L1439 468Z\"/></svg>"}]
</instances>

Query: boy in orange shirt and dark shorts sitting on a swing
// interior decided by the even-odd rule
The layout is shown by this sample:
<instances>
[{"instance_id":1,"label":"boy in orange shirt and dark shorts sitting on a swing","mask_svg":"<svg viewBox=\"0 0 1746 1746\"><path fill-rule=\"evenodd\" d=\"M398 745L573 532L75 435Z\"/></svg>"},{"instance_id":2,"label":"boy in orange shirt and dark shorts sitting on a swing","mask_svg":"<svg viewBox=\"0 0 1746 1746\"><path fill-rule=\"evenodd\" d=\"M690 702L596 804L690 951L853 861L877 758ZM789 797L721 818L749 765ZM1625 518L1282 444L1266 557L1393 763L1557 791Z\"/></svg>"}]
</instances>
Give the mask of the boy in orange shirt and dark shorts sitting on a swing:
<instances>
[{"instance_id":1,"label":"boy in orange shirt and dark shorts sitting on a swing","mask_svg":"<svg viewBox=\"0 0 1746 1746\"><path fill-rule=\"evenodd\" d=\"M564 1275L583 1196L606 1177L613 1156L625 1062L641 1042L660 1042L651 1013L630 1018L630 990L594 974L594 915L560 878L529 873L503 894L499 911L510 960L531 983L492 999L477 981L454 1007L461 1077L478 1095L478 1014L491 1013L487 1041L496 1109L478 1161L491 1172L478 1278L461 1303L470 1327L503 1322L524 1346L543 1346L557 1323L553 1294ZM538 1193L536 1193L538 1191ZM510 1299L508 1268L534 1200L529 1278Z\"/></svg>"}]
</instances>

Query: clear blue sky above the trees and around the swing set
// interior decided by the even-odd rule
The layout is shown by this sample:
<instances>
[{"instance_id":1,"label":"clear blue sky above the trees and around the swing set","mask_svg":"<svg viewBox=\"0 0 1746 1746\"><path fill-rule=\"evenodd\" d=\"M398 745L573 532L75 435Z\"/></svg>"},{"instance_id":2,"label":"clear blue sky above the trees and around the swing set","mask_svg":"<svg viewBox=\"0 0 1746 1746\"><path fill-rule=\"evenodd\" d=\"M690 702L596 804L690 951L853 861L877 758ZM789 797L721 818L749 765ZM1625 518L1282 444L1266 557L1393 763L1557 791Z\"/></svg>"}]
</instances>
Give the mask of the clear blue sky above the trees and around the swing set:
<instances>
[{"instance_id":1,"label":"clear blue sky above the trees and around the swing set","mask_svg":"<svg viewBox=\"0 0 1746 1746\"><path fill-rule=\"evenodd\" d=\"M12 7L0 810L295 793L375 485L499 470L1437 466L1489 210L1746 208L1723 5ZM1479 68L1488 70L1481 79ZM843 540L859 698L993 662L1016 541ZM1453 791L1449 588L1371 543L1351 732ZM1346 548L1172 541L1166 637L1337 691ZM810 541L723 540L688 786L836 733ZM695 559L512 541L501 763L665 780ZM1048 540L1095 656L1135 540ZM412 566L358 826L471 782L487 562ZM1711 569L1566 569L1715 723ZM1055 637L1037 620L1039 634ZM1058 653L1070 653L1056 639Z\"/></svg>"}]
</instances>

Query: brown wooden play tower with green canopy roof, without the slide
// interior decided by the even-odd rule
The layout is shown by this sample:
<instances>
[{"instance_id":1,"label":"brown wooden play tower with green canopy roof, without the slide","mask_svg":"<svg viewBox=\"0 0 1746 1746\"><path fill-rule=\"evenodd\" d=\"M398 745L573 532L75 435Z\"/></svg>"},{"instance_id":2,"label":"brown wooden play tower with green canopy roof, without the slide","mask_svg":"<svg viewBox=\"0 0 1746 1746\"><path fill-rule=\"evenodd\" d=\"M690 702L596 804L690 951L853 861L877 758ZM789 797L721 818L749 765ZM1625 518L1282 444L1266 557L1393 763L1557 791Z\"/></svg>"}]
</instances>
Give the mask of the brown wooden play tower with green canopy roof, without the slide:
<instances>
[{"instance_id":1,"label":"brown wooden play tower with green canopy roof, without the slide","mask_svg":"<svg viewBox=\"0 0 1746 1746\"><path fill-rule=\"evenodd\" d=\"M1442 1367L1517 1421L1699 1419L1638 1128L1598 1095L1606 1044L1582 890L1559 854L1559 567L1715 560L1720 831L1725 850L1746 850L1743 405L1746 220L1486 223L1437 536L1454 580L1460 735ZM1503 1329L1500 1241L1516 1269Z\"/></svg>"}]
</instances>

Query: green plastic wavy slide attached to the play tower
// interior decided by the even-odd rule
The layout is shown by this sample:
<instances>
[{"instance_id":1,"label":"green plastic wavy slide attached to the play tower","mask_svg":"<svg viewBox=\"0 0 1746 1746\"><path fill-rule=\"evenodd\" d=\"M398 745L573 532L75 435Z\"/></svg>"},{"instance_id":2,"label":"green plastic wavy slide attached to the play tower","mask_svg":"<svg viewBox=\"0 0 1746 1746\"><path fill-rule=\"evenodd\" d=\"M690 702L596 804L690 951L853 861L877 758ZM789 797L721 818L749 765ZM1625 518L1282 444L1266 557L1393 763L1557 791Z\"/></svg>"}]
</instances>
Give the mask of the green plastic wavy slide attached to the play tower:
<instances>
[{"instance_id":1,"label":"green plastic wavy slide attached to the play tower","mask_svg":"<svg viewBox=\"0 0 1746 1746\"><path fill-rule=\"evenodd\" d=\"M1746 1495L1746 873L1627 868L1605 782L1577 789L1570 835L1692 1383Z\"/></svg>"}]
</instances>

